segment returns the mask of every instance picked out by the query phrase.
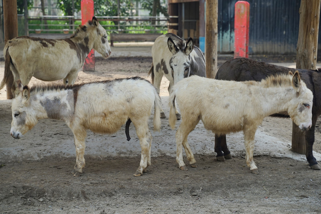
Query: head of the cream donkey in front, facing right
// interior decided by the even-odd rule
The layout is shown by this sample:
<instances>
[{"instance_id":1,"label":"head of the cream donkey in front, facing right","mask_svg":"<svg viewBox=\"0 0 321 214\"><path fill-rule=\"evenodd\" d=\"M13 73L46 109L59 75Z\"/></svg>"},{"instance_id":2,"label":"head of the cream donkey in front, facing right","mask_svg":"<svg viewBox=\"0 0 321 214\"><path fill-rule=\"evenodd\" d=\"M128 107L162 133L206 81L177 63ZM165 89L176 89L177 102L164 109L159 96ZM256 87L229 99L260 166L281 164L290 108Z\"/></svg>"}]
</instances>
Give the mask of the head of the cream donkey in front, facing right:
<instances>
[{"instance_id":1,"label":"head of the cream donkey in front, facing right","mask_svg":"<svg viewBox=\"0 0 321 214\"><path fill-rule=\"evenodd\" d=\"M306 84L301 80L299 72L294 74L290 71L292 77L292 87L296 94L291 100L288 113L295 124L302 131L308 130L312 126L312 102L313 94Z\"/></svg>"}]
</instances>

